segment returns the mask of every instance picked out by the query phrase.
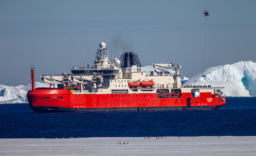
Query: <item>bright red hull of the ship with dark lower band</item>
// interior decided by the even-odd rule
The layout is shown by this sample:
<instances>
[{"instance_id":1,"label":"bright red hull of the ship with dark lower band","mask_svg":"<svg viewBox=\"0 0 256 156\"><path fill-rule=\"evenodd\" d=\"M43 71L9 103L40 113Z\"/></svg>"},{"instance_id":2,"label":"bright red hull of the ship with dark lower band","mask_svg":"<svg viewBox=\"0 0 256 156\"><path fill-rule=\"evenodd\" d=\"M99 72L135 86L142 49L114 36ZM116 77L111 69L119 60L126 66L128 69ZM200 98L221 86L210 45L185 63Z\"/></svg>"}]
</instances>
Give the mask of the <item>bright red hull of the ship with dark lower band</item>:
<instances>
[{"instance_id":1,"label":"bright red hull of the ship with dark lower band","mask_svg":"<svg viewBox=\"0 0 256 156\"><path fill-rule=\"evenodd\" d=\"M212 97L210 92L192 97L159 98L157 93L140 94L73 94L66 89L38 88L28 91L30 108L35 112L115 112L213 110L226 103L225 97Z\"/></svg>"}]
</instances>

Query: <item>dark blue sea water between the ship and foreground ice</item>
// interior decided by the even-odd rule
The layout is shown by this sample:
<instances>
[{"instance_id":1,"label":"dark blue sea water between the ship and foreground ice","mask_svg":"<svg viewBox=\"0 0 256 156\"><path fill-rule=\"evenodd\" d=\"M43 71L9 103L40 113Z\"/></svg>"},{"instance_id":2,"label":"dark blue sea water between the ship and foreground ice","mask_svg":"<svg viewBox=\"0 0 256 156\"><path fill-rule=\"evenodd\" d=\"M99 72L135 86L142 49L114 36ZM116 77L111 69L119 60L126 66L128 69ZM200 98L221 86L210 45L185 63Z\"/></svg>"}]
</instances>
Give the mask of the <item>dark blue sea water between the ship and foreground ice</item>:
<instances>
[{"instance_id":1,"label":"dark blue sea water between the ship and foreground ice","mask_svg":"<svg viewBox=\"0 0 256 156\"><path fill-rule=\"evenodd\" d=\"M256 135L256 98L226 101L218 110L44 114L2 104L0 138Z\"/></svg>"}]
</instances>

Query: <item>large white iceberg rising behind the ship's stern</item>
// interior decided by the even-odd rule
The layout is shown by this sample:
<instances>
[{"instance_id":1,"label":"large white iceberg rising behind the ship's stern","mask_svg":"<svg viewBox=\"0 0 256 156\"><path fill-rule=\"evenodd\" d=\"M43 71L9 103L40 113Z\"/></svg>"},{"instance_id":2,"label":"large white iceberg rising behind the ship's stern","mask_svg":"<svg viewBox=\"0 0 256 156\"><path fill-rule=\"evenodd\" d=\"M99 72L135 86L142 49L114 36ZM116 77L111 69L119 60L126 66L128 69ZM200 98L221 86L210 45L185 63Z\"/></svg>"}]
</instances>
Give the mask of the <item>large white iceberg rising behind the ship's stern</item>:
<instances>
[{"instance_id":1,"label":"large white iceberg rising behind the ship's stern","mask_svg":"<svg viewBox=\"0 0 256 156\"><path fill-rule=\"evenodd\" d=\"M186 85L223 86L226 96L256 97L256 63L240 61L211 67L184 82Z\"/></svg>"}]
</instances>

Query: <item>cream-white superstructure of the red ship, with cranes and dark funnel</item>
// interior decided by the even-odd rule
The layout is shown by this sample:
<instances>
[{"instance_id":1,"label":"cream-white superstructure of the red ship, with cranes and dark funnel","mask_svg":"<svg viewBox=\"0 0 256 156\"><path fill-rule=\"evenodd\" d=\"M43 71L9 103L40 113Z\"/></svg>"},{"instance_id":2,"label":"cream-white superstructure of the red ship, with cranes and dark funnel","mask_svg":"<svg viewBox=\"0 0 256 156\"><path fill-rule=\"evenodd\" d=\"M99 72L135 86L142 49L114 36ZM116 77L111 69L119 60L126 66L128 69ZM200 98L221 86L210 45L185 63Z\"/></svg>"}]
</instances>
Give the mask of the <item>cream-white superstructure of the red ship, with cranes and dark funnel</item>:
<instances>
[{"instance_id":1,"label":"cream-white superstructure of the red ship, with cranes and dark funnel","mask_svg":"<svg viewBox=\"0 0 256 156\"><path fill-rule=\"evenodd\" d=\"M174 63L153 64L159 70L152 71L150 74L143 72L137 55L133 52L126 52L119 59L108 60L108 49L104 42L100 43L100 48L96 52L94 66L86 65L80 67L75 65L71 70L72 74L62 75L43 75L43 82L57 84L61 82L67 86L78 83L79 89L74 93L94 93L94 94L111 94L111 93L156 93L156 89L163 88L182 88L179 69L180 65ZM174 70L170 72L165 69ZM153 86L129 87L129 82L147 82L152 80Z\"/></svg>"}]
</instances>

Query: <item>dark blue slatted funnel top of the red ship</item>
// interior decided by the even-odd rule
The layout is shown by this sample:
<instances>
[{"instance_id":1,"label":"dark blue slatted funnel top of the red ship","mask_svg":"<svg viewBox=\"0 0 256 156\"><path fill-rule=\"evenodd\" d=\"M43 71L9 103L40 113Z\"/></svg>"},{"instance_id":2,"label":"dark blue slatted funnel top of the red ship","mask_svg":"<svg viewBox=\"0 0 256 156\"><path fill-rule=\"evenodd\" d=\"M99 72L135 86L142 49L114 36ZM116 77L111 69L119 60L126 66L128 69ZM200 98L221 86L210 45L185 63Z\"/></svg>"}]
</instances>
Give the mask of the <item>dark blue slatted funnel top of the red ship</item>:
<instances>
[{"instance_id":1,"label":"dark blue slatted funnel top of the red ship","mask_svg":"<svg viewBox=\"0 0 256 156\"><path fill-rule=\"evenodd\" d=\"M133 52L125 52L120 57L121 67L132 67L132 65L137 65L137 67L141 67L141 63L139 62L139 58L136 53Z\"/></svg>"}]
</instances>

